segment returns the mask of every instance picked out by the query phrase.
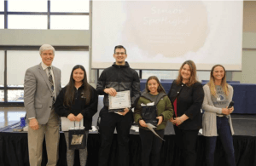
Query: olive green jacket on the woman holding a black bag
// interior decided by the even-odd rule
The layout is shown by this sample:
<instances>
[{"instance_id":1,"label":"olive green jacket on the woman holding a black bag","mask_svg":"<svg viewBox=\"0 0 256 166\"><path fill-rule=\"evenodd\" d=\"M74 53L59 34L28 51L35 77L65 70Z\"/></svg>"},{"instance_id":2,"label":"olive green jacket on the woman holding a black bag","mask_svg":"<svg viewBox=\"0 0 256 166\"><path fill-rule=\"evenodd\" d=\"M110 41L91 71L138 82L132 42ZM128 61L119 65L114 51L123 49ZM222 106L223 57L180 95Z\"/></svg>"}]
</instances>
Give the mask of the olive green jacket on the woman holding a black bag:
<instances>
[{"instance_id":1,"label":"olive green jacket on the woman holding a black bag","mask_svg":"<svg viewBox=\"0 0 256 166\"><path fill-rule=\"evenodd\" d=\"M144 92L142 96L139 98L137 102L137 106L134 109L134 121L138 123L140 119L142 119L141 111L142 111L142 106L141 104L143 103L144 105L153 102L154 100L150 99L151 95L148 92ZM160 129L165 129L167 121L172 117L173 115L173 109L172 109L172 103L169 100L168 96L164 92L160 92L158 94L158 99L157 102L154 103L157 107L157 116L162 116L163 117L163 122L160 123L159 126L157 126L156 130ZM138 123L139 127L141 129L148 129L142 127Z\"/></svg>"}]
</instances>

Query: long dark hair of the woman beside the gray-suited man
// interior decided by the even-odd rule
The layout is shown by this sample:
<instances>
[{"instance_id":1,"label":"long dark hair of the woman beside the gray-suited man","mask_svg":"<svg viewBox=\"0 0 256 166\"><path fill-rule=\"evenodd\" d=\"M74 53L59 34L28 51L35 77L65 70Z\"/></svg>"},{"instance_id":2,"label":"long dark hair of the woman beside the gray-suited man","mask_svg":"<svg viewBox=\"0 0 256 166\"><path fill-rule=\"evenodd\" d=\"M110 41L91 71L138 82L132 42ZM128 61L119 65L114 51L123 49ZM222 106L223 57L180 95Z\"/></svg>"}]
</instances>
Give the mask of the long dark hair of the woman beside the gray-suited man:
<instances>
[{"instance_id":1,"label":"long dark hair of the woman beside the gray-suited man","mask_svg":"<svg viewBox=\"0 0 256 166\"><path fill-rule=\"evenodd\" d=\"M73 80L73 71L76 69L81 69L82 71L84 71L84 79L82 81L83 82L82 86L84 86L83 93L85 96L86 105L88 105L90 103L90 84L87 82L87 76L86 76L84 66L77 65L77 66L73 67L71 75L70 75L69 83L67 83L67 86L66 86L67 89L66 89L66 93L64 96L64 105L65 106L71 106L73 103L73 97L74 97L74 93L75 93L75 90L74 90L74 82L75 81Z\"/></svg>"}]
</instances>

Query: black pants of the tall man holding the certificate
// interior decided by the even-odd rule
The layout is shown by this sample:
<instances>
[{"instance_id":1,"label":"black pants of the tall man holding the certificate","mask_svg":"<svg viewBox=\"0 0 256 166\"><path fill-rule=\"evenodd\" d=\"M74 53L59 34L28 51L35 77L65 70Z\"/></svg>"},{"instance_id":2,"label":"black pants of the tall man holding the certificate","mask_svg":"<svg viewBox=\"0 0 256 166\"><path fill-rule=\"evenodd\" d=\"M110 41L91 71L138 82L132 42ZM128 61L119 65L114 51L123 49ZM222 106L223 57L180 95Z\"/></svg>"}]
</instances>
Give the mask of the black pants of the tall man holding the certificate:
<instances>
[{"instance_id":1,"label":"black pants of the tall man holding the certificate","mask_svg":"<svg viewBox=\"0 0 256 166\"><path fill-rule=\"evenodd\" d=\"M113 141L113 132L116 128L119 144L119 166L129 165L129 135L131 123L133 122L132 112L121 116L116 113L108 112L107 107L103 107L100 112L101 122L99 124L101 133L101 147L99 152L99 166L107 166L110 148Z\"/></svg>"}]
</instances>

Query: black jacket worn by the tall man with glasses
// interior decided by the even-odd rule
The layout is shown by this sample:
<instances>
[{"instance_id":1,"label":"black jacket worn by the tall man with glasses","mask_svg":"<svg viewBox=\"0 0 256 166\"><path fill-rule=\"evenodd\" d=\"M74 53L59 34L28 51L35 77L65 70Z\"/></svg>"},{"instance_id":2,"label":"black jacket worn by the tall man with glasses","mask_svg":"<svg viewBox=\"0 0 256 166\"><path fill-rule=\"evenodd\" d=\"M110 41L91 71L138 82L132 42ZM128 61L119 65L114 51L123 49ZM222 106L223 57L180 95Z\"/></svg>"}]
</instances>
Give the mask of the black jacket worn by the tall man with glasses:
<instances>
[{"instance_id":1,"label":"black jacket worn by the tall man with glasses","mask_svg":"<svg viewBox=\"0 0 256 166\"><path fill-rule=\"evenodd\" d=\"M104 94L104 106L109 106L108 94L104 92L104 89L108 88L113 88L117 92L130 90L131 107L135 107L140 96L140 79L128 62L125 62L125 66L117 66L113 63L113 66L102 72L97 82L96 91L98 94Z\"/></svg>"}]
</instances>

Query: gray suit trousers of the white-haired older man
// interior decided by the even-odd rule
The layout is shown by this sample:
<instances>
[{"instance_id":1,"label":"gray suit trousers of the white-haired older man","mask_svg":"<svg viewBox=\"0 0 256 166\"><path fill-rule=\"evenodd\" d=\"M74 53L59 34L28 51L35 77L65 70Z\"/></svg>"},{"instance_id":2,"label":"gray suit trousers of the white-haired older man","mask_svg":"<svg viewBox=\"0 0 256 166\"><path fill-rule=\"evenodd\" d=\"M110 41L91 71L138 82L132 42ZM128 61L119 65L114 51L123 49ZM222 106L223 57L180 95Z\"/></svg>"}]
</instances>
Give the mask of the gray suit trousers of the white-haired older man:
<instances>
[{"instance_id":1,"label":"gray suit trousers of the white-haired older man","mask_svg":"<svg viewBox=\"0 0 256 166\"><path fill-rule=\"evenodd\" d=\"M42 163L44 135L48 157L47 166L55 166L57 164L60 138L59 128L60 120L54 110L51 110L46 124L39 124L38 130L32 130L28 127L28 151L31 166L40 166Z\"/></svg>"}]
</instances>

